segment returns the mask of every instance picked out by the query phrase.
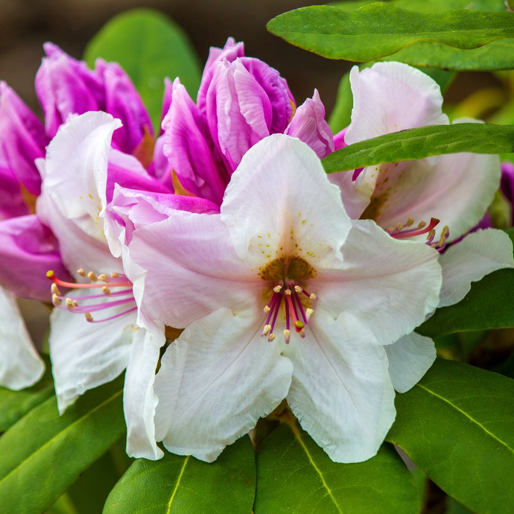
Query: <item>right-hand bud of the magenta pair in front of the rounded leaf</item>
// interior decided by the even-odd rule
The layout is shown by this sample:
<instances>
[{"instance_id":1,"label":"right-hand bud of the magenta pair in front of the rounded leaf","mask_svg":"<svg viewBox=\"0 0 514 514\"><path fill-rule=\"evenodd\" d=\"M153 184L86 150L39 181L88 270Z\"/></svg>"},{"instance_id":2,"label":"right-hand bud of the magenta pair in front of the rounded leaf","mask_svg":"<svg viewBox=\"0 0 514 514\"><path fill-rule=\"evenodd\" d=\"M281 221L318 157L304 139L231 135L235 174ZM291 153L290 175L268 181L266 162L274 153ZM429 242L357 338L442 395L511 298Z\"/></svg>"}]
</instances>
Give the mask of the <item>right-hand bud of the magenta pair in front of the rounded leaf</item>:
<instances>
[{"instance_id":1,"label":"right-hand bud of the magenta pair in front of the rounded leaf","mask_svg":"<svg viewBox=\"0 0 514 514\"><path fill-rule=\"evenodd\" d=\"M100 109L122 123L113 136L113 145L130 154L145 134L153 136L150 116L134 84L119 64L97 59L95 71L104 83L104 99Z\"/></svg>"}]
</instances>

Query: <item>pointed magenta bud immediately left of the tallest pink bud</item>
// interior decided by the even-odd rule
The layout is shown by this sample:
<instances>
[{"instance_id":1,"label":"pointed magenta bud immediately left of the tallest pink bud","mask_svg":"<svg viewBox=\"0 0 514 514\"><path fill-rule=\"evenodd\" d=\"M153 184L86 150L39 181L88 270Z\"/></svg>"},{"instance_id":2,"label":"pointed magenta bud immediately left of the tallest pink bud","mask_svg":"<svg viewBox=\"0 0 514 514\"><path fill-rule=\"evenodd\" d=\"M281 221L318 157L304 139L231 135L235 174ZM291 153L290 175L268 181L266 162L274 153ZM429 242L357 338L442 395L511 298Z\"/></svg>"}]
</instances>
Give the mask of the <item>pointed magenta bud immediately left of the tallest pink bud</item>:
<instances>
[{"instance_id":1,"label":"pointed magenta bud immediately left of the tallest pink bud","mask_svg":"<svg viewBox=\"0 0 514 514\"><path fill-rule=\"evenodd\" d=\"M163 152L181 185L196 196L221 204L228 175L216 155L205 117L178 79L162 127Z\"/></svg>"}]
</instances>

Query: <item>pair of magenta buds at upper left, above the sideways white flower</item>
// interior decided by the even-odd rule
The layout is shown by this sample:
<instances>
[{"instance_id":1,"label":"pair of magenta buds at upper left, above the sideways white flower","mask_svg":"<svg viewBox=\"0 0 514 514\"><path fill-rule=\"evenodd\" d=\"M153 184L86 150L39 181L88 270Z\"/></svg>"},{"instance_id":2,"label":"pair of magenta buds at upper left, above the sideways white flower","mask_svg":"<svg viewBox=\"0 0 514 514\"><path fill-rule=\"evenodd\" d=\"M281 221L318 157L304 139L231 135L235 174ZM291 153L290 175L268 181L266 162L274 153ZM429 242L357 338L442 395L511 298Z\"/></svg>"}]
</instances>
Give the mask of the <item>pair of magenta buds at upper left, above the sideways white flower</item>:
<instances>
[{"instance_id":1,"label":"pair of magenta buds at upper left, above the sideways white flower","mask_svg":"<svg viewBox=\"0 0 514 514\"><path fill-rule=\"evenodd\" d=\"M121 120L123 126L115 133L113 145L122 152L133 153L145 134L153 135L150 117L117 63L98 59L91 70L52 43L45 43L44 49L46 57L36 74L35 88L50 138L71 114L87 111L105 111Z\"/></svg>"}]
</instances>

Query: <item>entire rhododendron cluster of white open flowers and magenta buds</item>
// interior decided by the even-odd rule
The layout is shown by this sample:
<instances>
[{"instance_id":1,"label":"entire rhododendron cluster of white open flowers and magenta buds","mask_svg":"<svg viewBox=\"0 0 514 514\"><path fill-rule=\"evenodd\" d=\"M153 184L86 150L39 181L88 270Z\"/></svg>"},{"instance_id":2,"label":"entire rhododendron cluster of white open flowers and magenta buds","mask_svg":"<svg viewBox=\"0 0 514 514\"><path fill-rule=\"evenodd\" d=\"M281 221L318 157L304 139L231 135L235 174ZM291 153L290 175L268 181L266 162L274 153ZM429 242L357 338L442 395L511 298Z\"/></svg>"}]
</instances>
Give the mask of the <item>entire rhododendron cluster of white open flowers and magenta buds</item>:
<instances>
[{"instance_id":1,"label":"entire rhododendron cluster of white open flowers and magenta buds","mask_svg":"<svg viewBox=\"0 0 514 514\"><path fill-rule=\"evenodd\" d=\"M284 399L332 460L375 455L395 390L435 358L414 329L514 267L504 232L469 233L500 187L498 157L327 176L320 159L342 146L449 123L437 84L405 64L353 68L352 121L333 135L316 90L297 107L229 39L196 102L166 81L156 137L117 64L45 52L44 124L0 83L0 384L43 373L15 302L32 298L53 308L60 412L126 370L132 456L160 458L162 442L213 461ZM510 200L511 179L506 166Z\"/></svg>"}]
</instances>

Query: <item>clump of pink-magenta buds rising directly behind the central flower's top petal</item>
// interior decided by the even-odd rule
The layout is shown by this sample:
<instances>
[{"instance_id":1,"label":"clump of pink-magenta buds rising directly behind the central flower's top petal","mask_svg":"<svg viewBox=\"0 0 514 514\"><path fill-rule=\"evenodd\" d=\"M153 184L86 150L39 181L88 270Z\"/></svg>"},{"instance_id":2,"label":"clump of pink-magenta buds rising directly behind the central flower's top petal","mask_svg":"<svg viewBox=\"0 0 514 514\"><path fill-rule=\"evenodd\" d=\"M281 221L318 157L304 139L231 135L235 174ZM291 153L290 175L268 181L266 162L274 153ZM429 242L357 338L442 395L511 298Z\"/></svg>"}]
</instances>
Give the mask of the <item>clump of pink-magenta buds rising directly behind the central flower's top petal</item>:
<instances>
[{"instance_id":1,"label":"clump of pink-magenta buds rising directly behind the central flower's top petal","mask_svg":"<svg viewBox=\"0 0 514 514\"><path fill-rule=\"evenodd\" d=\"M196 104L178 79L170 102L164 154L183 188L218 205L243 155L270 134L298 137L319 157L334 151L318 91L297 109L279 72L232 38L211 48Z\"/></svg>"}]
</instances>

